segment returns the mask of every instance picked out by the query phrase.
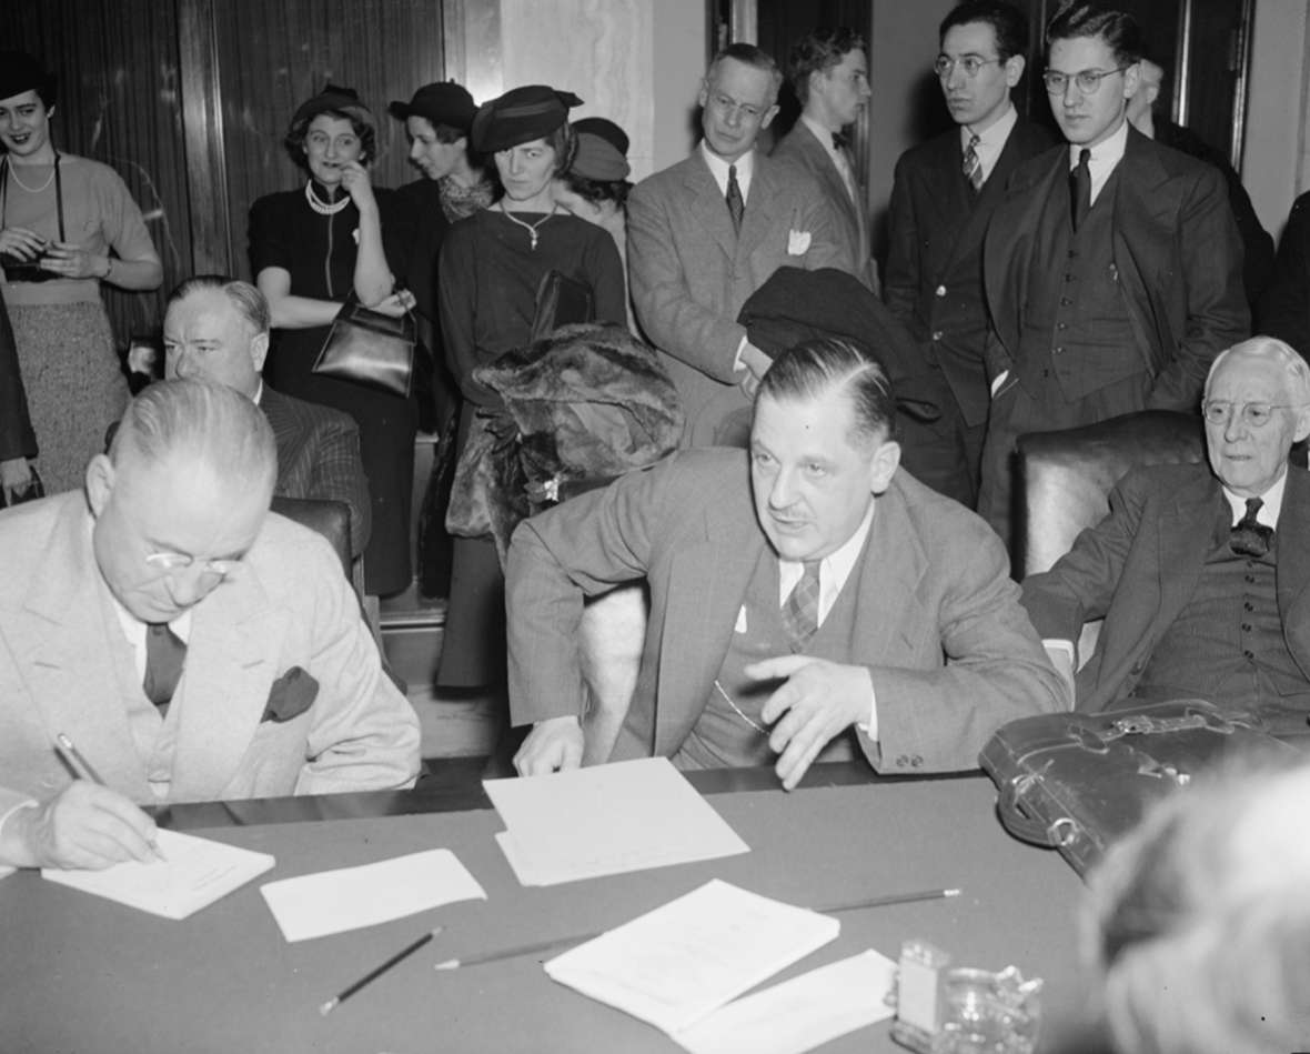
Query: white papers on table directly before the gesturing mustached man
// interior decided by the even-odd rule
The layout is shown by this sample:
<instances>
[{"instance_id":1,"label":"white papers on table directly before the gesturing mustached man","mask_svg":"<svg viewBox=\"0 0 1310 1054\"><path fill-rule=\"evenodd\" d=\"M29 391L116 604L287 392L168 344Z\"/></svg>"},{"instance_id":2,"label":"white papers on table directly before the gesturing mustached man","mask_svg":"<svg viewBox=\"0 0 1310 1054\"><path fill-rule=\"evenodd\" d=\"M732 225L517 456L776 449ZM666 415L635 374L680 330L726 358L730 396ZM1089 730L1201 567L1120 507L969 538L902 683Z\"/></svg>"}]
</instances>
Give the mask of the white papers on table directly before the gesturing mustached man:
<instances>
[{"instance_id":1,"label":"white papers on table directly before the gesturing mustached man","mask_svg":"<svg viewBox=\"0 0 1310 1054\"><path fill-rule=\"evenodd\" d=\"M749 852L667 758L483 780L496 835L525 886Z\"/></svg>"}]
</instances>

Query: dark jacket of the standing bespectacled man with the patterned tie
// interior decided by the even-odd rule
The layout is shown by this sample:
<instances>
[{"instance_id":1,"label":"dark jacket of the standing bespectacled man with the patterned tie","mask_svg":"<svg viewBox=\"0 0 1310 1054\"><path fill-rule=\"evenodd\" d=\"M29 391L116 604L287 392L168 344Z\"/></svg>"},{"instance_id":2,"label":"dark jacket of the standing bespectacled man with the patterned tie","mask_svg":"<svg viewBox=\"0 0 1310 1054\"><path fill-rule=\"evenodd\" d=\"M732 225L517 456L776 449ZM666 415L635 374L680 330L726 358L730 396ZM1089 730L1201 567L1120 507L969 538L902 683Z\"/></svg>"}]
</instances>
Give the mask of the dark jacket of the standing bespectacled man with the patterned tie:
<instances>
[{"instance_id":1,"label":"dark jacket of the standing bespectacled man with the patterned tie","mask_svg":"<svg viewBox=\"0 0 1310 1054\"><path fill-rule=\"evenodd\" d=\"M986 423L990 393L982 350L982 236L1010 174L1055 140L1022 118L977 195L963 176L959 128L905 151L896 163L883 300L939 363L965 425Z\"/></svg>"}]
</instances>

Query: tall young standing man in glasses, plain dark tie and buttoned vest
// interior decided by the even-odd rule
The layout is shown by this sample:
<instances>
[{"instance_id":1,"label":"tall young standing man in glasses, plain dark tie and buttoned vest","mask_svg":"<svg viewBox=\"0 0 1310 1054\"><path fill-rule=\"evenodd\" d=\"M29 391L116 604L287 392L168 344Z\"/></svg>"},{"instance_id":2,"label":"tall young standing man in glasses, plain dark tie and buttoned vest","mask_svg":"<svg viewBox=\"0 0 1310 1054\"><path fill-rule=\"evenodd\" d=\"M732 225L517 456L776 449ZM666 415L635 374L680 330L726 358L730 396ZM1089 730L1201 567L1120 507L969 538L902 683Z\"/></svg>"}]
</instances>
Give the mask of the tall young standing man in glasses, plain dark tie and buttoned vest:
<instances>
[{"instance_id":1,"label":"tall young standing man in glasses, plain dark tie and buttoned vest","mask_svg":"<svg viewBox=\"0 0 1310 1054\"><path fill-rule=\"evenodd\" d=\"M1045 42L1066 144L1014 173L982 249L992 409L979 511L1006 541L1019 435L1193 412L1210 362L1250 333L1224 177L1127 121L1137 22L1073 3Z\"/></svg>"}]
</instances>

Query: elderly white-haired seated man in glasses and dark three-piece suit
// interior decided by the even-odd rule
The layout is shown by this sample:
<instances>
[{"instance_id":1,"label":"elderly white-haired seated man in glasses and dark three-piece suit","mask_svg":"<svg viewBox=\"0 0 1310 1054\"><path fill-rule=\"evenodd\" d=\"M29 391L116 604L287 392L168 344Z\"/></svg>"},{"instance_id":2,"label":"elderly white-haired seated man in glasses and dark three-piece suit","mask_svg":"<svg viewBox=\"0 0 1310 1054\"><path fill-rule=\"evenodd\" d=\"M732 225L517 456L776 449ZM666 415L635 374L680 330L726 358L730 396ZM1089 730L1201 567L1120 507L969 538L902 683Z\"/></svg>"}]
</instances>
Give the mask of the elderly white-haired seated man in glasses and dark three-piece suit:
<instances>
[{"instance_id":1,"label":"elderly white-haired seated man in glasses and dark three-piece suit","mask_svg":"<svg viewBox=\"0 0 1310 1054\"><path fill-rule=\"evenodd\" d=\"M1208 464L1128 473L1110 515L1023 583L1023 606L1079 711L1208 699L1233 712L1310 713L1310 367L1252 337L1214 359L1201 402ZM1104 617L1095 653L1082 624Z\"/></svg>"}]
</instances>

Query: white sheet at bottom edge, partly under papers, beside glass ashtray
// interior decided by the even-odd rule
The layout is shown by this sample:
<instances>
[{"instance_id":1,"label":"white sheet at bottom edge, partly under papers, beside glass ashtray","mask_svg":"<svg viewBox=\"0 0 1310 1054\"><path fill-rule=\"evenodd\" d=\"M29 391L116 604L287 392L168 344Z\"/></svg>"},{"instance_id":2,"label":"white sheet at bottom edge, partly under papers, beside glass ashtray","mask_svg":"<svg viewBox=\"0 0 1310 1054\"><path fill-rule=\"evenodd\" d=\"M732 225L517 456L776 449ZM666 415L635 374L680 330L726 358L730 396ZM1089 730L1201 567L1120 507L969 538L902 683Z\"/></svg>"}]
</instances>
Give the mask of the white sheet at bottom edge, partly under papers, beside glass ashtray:
<instances>
[{"instance_id":1,"label":"white sheet at bottom edge, partly under papers, beside glass ashtray","mask_svg":"<svg viewBox=\"0 0 1310 1054\"><path fill-rule=\"evenodd\" d=\"M802 1054L892 1016L896 964L869 950L747 995L673 1038L692 1054Z\"/></svg>"}]
</instances>

